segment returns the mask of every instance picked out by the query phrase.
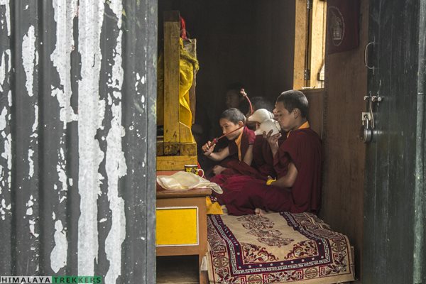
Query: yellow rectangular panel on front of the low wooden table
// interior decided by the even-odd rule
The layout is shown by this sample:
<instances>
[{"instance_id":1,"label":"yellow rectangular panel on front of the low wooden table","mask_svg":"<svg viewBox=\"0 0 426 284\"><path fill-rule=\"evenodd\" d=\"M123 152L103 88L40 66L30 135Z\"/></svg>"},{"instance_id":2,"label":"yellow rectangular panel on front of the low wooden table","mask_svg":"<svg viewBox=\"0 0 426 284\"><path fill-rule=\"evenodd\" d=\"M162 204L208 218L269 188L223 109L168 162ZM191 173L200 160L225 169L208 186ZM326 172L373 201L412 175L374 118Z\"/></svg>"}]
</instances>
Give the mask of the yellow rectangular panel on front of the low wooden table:
<instances>
[{"instance_id":1,"label":"yellow rectangular panel on front of the low wooden table","mask_svg":"<svg viewBox=\"0 0 426 284\"><path fill-rule=\"evenodd\" d=\"M157 246L197 245L197 208L157 208Z\"/></svg>"}]
</instances>

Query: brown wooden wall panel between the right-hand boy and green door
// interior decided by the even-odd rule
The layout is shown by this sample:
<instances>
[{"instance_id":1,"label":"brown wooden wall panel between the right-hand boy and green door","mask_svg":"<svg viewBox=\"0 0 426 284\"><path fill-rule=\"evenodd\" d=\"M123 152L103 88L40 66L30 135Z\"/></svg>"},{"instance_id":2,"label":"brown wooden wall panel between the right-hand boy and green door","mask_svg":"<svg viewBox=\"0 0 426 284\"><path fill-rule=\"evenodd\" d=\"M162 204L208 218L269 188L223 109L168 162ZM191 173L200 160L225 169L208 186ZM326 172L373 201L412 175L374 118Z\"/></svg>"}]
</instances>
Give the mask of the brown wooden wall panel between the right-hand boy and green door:
<instances>
[{"instance_id":1,"label":"brown wooden wall panel between the right-hand boy and green door","mask_svg":"<svg viewBox=\"0 0 426 284\"><path fill-rule=\"evenodd\" d=\"M324 180L320 217L351 240L355 249L356 278L360 278L364 261L366 146L357 136L361 127L360 114L366 108L363 97L367 92L367 72L359 62L364 58L364 46L368 42L367 15L368 1L362 0L359 48L327 55L323 113ZM368 229L370 234L373 231L373 227Z\"/></svg>"}]
</instances>

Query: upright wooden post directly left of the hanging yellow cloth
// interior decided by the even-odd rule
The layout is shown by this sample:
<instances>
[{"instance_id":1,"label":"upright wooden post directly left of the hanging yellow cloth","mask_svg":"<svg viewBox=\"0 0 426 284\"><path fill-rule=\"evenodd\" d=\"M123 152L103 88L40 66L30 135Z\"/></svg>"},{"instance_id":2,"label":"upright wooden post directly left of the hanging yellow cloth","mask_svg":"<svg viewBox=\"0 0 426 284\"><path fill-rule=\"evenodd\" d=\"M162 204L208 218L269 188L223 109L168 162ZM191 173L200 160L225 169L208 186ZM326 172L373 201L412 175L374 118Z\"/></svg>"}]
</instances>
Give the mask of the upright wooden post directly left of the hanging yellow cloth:
<instances>
[{"instance_id":1,"label":"upright wooden post directly left of the hanging yellow cloth","mask_svg":"<svg viewBox=\"0 0 426 284\"><path fill-rule=\"evenodd\" d=\"M179 12L167 11L164 18L164 141L179 142Z\"/></svg>"}]
</instances>

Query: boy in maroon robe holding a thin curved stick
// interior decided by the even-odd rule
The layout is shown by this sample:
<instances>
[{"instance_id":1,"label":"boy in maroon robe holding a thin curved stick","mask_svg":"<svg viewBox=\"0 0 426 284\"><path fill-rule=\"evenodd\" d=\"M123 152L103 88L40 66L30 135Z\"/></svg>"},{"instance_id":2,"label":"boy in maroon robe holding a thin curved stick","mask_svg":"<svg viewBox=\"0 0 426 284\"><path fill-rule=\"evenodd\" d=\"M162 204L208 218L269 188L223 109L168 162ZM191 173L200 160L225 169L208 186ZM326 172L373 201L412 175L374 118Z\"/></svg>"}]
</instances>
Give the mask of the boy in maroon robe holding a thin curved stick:
<instances>
[{"instance_id":1,"label":"boy in maroon robe holding a thin curved stick","mask_svg":"<svg viewBox=\"0 0 426 284\"><path fill-rule=\"evenodd\" d=\"M213 152L216 144L212 141L208 141L202 146L203 154L211 160L223 161L225 158L229 158L222 165L214 166L215 175L219 175L226 168L238 165L239 162L251 165L255 135L253 131L244 126L245 120L246 116L239 109L226 109L219 117L219 124L222 133L229 139L228 146L218 152Z\"/></svg>"}]
</instances>

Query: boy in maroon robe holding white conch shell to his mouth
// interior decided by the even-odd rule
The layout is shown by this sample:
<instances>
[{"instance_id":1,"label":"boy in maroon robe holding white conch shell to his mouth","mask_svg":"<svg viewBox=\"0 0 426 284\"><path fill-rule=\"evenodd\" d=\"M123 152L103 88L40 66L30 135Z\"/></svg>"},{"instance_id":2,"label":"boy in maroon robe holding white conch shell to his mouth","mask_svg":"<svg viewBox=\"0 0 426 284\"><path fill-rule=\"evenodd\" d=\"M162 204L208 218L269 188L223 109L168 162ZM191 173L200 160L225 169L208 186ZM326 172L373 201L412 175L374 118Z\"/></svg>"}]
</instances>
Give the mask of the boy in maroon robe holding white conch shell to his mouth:
<instances>
[{"instance_id":1,"label":"boy in maroon robe holding white conch shell to his mouth","mask_svg":"<svg viewBox=\"0 0 426 284\"><path fill-rule=\"evenodd\" d=\"M217 196L229 214L275 212L317 213L321 203L322 147L320 137L307 121L308 103L300 91L283 92L275 103L275 119L287 138L278 145L281 133L264 133L273 154L276 180L230 177ZM244 182L242 182L244 180Z\"/></svg>"}]
</instances>

